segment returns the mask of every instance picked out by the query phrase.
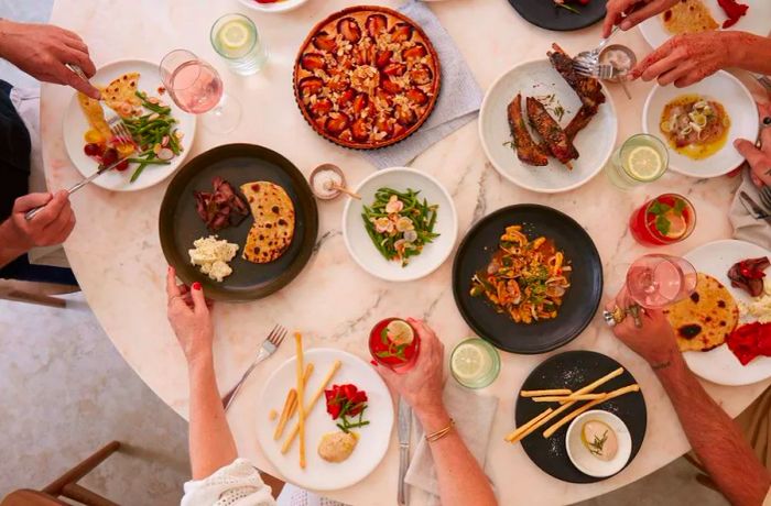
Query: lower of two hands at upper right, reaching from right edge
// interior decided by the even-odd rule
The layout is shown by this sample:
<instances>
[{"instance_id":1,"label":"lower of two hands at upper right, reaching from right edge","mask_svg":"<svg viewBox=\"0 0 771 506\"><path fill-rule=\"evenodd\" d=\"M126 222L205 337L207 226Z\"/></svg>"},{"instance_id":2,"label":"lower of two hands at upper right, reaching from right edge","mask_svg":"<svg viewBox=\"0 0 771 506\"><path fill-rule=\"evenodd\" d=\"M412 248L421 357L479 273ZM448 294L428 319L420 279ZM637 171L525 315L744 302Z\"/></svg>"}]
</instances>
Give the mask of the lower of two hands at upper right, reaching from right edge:
<instances>
[{"instance_id":1,"label":"lower of two hands at upper right, reaching from right edge","mask_svg":"<svg viewBox=\"0 0 771 506\"><path fill-rule=\"evenodd\" d=\"M629 78L658 79L661 86L674 82L677 88L691 86L730 66L734 35L731 32L675 35L638 63Z\"/></svg>"}]
</instances>

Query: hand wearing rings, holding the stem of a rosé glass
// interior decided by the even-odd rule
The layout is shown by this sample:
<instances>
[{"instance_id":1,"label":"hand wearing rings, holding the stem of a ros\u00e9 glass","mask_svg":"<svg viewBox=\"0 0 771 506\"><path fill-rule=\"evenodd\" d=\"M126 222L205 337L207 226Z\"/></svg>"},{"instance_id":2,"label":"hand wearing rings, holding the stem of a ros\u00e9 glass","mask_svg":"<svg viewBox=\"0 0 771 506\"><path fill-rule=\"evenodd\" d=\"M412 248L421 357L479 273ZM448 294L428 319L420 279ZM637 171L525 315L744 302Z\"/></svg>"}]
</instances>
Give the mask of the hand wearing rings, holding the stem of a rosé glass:
<instances>
[{"instance_id":1,"label":"hand wearing rings, holding the stem of a ros\u00e9 glass","mask_svg":"<svg viewBox=\"0 0 771 506\"><path fill-rule=\"evenodd\" d=\"M625 288L616 296L615 301L606 305L608 311L618 306L626 309L630 306L629 294ZM673 354L680 353L674 330L663 311L640 308L641 327L634 324L634 319L627 315L621 322L612 328L616 337L634 353L642 356L651 366L667 363Z\"/></svg>"}]
</instances>

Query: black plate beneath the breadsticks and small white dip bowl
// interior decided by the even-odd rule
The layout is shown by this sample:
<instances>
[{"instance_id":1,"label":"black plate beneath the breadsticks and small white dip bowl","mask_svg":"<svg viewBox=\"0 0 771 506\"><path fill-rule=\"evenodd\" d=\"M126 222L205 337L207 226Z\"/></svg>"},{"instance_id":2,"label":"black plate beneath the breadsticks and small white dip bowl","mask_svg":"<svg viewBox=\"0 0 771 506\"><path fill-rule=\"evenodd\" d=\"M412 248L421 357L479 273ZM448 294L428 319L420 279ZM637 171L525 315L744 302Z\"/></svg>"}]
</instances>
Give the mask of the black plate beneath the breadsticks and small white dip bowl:
<instances>
[{"instance_id":1,"label":"black plate beneath the breadsticks and small white dip bowl","mask_svg":"<svg viewBox=\"0 0 771 506\"><path fill-rule=\"evenodd\" d=\"M568 351L542 362L541 365L530 373L530 376L528 376L522 384L522 389L569 388L576 391L595 380L599 380L618 367L621 367L621 364L601 353L595 353L593 351ZM625 370L620 376L599 386L596 392L611 392L633 383L637 383L634 376ZM546 407L554 406L520 397L518 392L517 411L514 414L517 427L526 424L540 415ZM640 447L642 446L642 440L645 439L648 414L645 410L645 398L642 396L642 392L631 392L616 397L615 399L598 404L591 409L602 409L612 413L623 420L629 429L629 435L632 438L632 453L625 465L626 468L634 460L637 452L640 451ZM569 409L566 413L569 413ZM556 422L560 418L561 415L557 415L556 418L550 421ZM524 448L525 453L528 453L528 457L530 457L530 460L532 460L535 465L552 476L571 483L594 483L610 477L594 477L578 471L576 466L573 465L573 462L571 462L569 457L567 457L567 449L565 448L565 435L567 433L569 424L565 424L560 430L554 432L551 438L546 439L542 435L549 425L550 424L546 424L540 427L521 441L522 448Z\"/></svg>"}]
</instances>

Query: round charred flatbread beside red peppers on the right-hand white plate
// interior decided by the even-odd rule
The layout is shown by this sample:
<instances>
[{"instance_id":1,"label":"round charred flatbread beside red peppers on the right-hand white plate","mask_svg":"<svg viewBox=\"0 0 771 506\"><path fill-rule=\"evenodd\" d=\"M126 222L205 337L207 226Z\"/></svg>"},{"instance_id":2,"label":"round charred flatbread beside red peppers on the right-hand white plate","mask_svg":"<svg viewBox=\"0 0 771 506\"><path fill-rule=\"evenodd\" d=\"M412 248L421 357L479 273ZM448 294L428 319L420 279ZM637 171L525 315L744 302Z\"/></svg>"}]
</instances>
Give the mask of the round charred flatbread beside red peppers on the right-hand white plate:
<instances>
[{"instance_id":1,"label":"round charred flatbread beside red peppers on the right-hand white plate","mask_svg":"<svg viewBox=\"0 0 771 506\"><path fill-rule=\"evenodd\" d=\"M708 351L726 342L739 321L730 292L708 274L698 273L691 297L664 310L681 351Z\"/></svg>"}]
</instances>

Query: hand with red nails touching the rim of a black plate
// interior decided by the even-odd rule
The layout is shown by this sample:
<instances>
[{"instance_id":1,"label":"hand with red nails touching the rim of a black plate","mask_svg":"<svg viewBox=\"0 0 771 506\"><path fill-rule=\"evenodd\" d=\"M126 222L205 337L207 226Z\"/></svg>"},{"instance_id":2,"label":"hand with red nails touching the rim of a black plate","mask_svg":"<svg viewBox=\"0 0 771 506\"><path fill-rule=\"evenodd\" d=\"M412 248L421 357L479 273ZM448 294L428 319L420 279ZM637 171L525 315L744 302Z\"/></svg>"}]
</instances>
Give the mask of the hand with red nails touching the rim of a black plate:
<instances>
[{"instance_id":1,"label":"hand with red nails touching the rim of a black plate","mask_svg":"<svg viewBox=\"0 0 771 506\"><path fill-rule=\"evenodd\" d=\"M214 342L214 326L210 302L204 297L200 283L193 283L193 289L186 285L176 284L176 270L169 266L166 272L166 296L169 307L166 316L176 334L182 351L187 359L187 365L200 360L211 359Z\"/></svg>"}]
</instances>

